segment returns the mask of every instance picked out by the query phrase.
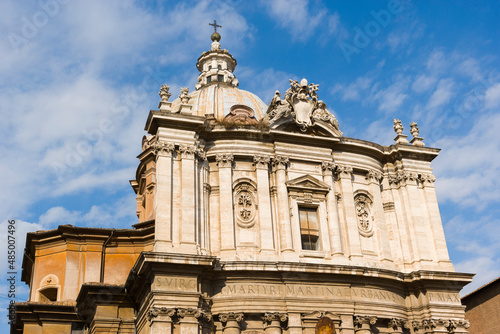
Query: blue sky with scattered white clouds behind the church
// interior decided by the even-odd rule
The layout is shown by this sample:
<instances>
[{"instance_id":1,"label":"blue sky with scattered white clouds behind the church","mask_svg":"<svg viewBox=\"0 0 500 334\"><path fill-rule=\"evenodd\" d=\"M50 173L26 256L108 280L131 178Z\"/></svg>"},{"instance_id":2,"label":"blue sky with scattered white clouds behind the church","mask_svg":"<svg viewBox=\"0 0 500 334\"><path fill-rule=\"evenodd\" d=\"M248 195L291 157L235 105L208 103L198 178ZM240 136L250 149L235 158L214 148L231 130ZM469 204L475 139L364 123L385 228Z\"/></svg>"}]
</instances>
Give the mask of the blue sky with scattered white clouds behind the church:
<instances>
[{"instance_id":1,"label":"blue sky with scattered white clouds behind the church","mask_svg":"<svg viewBox=\"0 0 500 334\"><path fill-rule=\"evenodd\" d=\"M173 97L194 90L216 19L240 88L266 103L305 77L345 136L391 145L392 119L406 134L418 122L442 149L438 200L456 270L477 273L470 292L500 275L499 12L462 0L3 1L0 231L16 220L20 257L27 231L137 222L128 180L148 112L163 83Z\"/></svg>"}]
</instances>

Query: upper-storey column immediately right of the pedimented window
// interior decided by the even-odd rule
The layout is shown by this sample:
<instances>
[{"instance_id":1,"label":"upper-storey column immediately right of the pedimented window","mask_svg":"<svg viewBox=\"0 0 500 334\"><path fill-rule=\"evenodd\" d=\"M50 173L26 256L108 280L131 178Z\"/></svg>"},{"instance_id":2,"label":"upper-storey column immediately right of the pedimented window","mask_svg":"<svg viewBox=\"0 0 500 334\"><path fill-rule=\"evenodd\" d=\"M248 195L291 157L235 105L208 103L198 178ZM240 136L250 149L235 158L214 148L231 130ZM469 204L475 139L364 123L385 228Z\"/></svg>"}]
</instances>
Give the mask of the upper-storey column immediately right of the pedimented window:
<instances>
[{"instance_id":1,"label":"upper-storey column immediately right of the pedimented window","mask_svg":"<svg viewBox=\"0 0 500 334\"><path fill-rule=\"evenodd\" d=\"M323 161L321 167L323 169L323 181L330 187L330 191L326 196L326 203L328 208L328 231L330 234L331 255L344 255L342 250L337 198L335 196L335 185L333 182L333 173L337 166L331 161Z\"/></svg>"}]
</instances>

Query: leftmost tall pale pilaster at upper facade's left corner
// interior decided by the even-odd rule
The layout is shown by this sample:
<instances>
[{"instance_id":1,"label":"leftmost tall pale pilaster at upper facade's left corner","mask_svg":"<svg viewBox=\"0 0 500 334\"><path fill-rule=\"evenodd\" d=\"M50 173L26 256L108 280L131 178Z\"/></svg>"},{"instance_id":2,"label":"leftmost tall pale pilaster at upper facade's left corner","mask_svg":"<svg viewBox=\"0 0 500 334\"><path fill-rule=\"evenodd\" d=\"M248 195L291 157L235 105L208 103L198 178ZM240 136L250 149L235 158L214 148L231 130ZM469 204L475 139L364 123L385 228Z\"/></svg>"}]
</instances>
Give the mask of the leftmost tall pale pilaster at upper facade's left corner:
<instances>
[{"instance_id":1,"label":"leftmost tall pale pilaster at upper facade's left corner","mask_svg":"<svg viewBox=\"0 0 500 334\"><path fill-rule=\"evenodd\" d=\"M154 251L164 252L172 244L172 154L175 145L156 141L156 195L155 195L155 244Z\"/></svg>"}]
</instances>

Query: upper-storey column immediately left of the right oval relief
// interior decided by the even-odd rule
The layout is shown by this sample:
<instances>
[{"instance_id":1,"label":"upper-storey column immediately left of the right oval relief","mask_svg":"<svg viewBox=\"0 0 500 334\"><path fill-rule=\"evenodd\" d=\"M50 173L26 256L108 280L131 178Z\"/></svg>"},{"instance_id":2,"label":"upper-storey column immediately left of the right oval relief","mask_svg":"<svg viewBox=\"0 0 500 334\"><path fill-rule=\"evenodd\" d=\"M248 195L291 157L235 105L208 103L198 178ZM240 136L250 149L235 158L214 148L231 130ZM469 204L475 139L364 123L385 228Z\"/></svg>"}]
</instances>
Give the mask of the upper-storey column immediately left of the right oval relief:
<instances>
[{"instance_id":1,"label":"upper-storey column immediately left of the right oval relief","mask_svg":"<svg viewBox=\"0 0 500 334\"><path fill-rule=\"evenodd\" d=\"M351 259L355 257L361 257L361 242L359 240L358 232L358 218L356 215L356 207L354 205L354 193L352 188L352 173L353 168L351 166L337 165L337 174L340 181L340 188L342 191L342 200L344 202L344 229L346 233L346 241L348 249L344 250L345 253ZM347 251L347 252L346 252Z\"/></svg>"}]
</instances>

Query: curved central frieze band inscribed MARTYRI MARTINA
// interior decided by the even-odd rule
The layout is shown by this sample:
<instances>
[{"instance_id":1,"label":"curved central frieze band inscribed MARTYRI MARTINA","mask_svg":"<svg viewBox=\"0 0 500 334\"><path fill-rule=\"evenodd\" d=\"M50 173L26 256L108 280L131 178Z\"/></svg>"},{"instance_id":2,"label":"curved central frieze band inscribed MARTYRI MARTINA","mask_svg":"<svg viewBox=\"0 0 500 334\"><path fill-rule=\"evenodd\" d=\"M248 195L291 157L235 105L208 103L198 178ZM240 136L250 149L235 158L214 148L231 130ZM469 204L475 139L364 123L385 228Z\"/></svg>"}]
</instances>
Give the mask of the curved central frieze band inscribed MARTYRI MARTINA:
<instances>
[{"instance_id":1,"label":"curved central frieze band inscribed MARTYRI MARTINA","mask_svg":"<svg viewBox=\"0 0 500 334\"><path fill-rule=\"evenodd\" d=\"M249 284L228 283L219 289L217 297L268 296L281 298L330 298L333 300L380 301L404 304L404 298L397 293L371 288L308 284Z\"/></svg>"}]
</instances>

